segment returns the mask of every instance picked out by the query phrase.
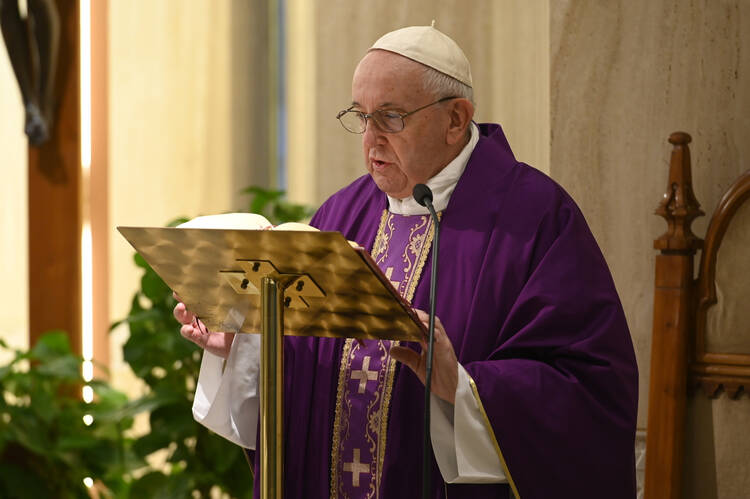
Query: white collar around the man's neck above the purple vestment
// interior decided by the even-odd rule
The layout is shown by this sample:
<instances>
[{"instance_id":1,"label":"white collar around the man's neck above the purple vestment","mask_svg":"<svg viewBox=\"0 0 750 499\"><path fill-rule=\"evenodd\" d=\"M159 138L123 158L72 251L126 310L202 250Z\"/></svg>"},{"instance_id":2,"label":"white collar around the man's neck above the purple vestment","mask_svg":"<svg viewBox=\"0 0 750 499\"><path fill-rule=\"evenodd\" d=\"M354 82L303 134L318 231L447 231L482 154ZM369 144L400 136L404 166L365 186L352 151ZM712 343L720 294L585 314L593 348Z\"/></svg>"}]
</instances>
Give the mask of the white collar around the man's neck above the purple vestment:
<instances>
[{"instance_id":1,"label":"white collar around the man's neck above the purple vestment","mask_svg":"<svg viewBox=\"0 0 750 499\"><path fill-rule=\"evenodd\" d=\"M442 211L448 206L451 194L466 169L469 156L474 151L477 142L479 142L479 129L472 122L469 142L461 149L458 156L453 158L453 161L426 182L427 187L432 191L432 205L435 211ZM429 213L427 208L417 203L413 196L404 199L388 196L388 210L397 215L427 215Z\"/></svg>"}]
</instances>

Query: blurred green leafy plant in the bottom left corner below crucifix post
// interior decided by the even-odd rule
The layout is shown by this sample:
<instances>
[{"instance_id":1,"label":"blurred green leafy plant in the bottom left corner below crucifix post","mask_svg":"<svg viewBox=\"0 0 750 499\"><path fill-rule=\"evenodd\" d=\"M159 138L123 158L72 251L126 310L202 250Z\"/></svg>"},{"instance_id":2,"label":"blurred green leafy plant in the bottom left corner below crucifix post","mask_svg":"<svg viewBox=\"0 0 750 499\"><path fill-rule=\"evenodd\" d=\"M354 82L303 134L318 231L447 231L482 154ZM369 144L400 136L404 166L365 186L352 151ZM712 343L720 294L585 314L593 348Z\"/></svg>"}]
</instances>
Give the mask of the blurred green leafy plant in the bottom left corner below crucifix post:
<instances>
[{"instance_id":1,"label":"blurred green leafy plant in the bottom left corner below crucifix post","mask_svg":"<svg viewBox=\"0 0 750 499\"><path fill-rule=\"evenodd\" d=\"M20 359L32 361L28 369L14 367ZM114 484L111 477L119 476L124 483L123 476L144 465L132 457L131 440L123 435L132 421L100 418L84 424L84 414L114 412L126 397L93 381L102 395L85 404L80 367L60 331L43 335L2 366L3 391L15 398L11 405L0 397L0 497L86 498L85 476L108 476ZM14 488L16 478L22 478L22 492Z\"/></svg>"}]
</instances>

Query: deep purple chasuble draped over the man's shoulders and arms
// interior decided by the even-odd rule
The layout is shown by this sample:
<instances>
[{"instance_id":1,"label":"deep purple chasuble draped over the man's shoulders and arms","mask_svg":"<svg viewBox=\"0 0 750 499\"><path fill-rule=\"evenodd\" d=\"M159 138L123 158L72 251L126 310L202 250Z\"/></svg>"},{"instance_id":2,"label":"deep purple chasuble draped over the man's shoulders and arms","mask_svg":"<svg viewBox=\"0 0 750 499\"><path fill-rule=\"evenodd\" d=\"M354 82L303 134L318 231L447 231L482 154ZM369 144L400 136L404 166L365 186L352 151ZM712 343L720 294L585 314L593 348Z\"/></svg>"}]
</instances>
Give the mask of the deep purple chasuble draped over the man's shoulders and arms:
<instances>
[{"instance_id":1,"label":"deep purple chasuble draped over the man's shoulders and arms","mask_svg":"<svg viewBox=\"0 0 750 499\"><path fill-rule=\"evenodd\" d=\"M433 457L430 497L504 498L514 489L524 499L634 498L638 373L607 264L570 196L517 162L500 126L479 128L441 219L437 315L473 380L511 484L446 485ZM386 209L385 194L366 175L331 196L312 225L372 251ZM428 309L429 288L425 272L411 298L415 308ZM354 450L367 437L339 440L334 461L346 345L285 339L287 498L329 497L339 463L338 476L350 486L354 473L344 465L363 469L355 468L364 463L363 447L359 461ZM370 354L368 371L373 356L383 355ZM352 360L350 392L359 390L354 371L369 376L364 357ZM367 476L379 474L376 497L413 499L422 494L424 385L398 363L392 374L386 434L374 451L382 462ZM258 476L257 457L255 467ZM365 476L359 473L360 484Z\"/></svg>"}]
</instances>

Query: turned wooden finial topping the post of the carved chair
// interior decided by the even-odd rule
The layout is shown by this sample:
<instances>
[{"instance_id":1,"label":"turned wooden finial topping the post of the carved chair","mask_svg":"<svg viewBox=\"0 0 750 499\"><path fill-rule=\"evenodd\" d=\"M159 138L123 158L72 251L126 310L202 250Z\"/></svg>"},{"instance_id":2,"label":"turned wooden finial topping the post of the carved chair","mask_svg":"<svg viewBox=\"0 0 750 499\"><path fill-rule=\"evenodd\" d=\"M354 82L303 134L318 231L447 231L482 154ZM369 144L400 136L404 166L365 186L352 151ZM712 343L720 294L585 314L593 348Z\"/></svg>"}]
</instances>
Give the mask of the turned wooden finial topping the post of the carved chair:
<instances>
[{"instance_id":1,"label":"turned wooden finial topping the post of the carved chair","mask_svg":"<svg viewBox=\"0 0 750 499\"><path fill-rule=\"evenodd\" d=\"M654 248L663 252L694 253L703 246L703 240L690 229L693 220L704 214L693 194L688 148L691 140L685 132L674 132L669 136L669 142L674 145L669 162L669 183L656 208L656 214L667 221L667 232L654 241Z\"/></svg>"}]
</instances>

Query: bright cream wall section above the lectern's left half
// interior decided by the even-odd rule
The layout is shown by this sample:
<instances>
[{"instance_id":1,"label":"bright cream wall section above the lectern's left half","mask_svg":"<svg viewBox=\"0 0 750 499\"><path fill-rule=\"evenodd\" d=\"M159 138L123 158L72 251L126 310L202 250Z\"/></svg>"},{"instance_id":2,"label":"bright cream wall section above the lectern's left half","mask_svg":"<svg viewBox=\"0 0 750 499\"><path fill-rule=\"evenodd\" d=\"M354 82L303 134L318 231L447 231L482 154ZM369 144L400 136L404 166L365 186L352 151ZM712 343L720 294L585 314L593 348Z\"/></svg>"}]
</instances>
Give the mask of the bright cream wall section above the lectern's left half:
<instances>
[{"instance_id":1,"label":"bright cream wall section above the lectern's left half","mask_svg":"<svg viewBox=\"0 0 750 499\"><path fill-rule=\"evenodd\" d=\"M243 206L238 191L268 174L262 2L110 2L110 310L127 314L140 272L117 225ZM261 10L262 12L262 10ZM260 66L260 69L257 66ZM175 327L175 334L177 327ZM115 384L133 390L121 345Z\"/></svg>"}]
</instances>

